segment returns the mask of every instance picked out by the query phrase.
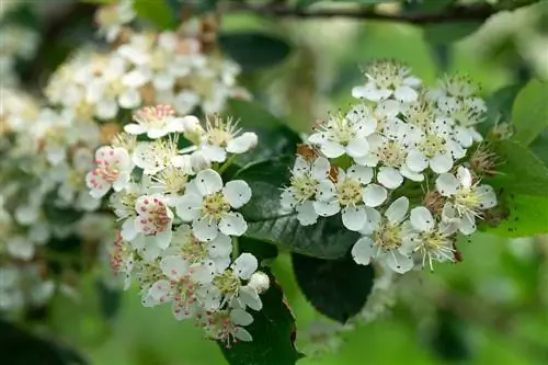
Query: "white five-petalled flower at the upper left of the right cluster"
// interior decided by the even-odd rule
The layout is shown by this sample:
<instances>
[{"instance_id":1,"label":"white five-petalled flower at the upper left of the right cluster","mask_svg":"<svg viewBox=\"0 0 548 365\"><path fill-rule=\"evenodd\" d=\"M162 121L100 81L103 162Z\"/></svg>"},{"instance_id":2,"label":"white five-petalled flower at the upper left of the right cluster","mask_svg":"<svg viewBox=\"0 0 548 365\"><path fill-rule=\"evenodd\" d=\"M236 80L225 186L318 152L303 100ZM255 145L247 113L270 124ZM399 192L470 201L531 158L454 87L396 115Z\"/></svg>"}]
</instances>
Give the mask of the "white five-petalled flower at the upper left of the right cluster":
<instances>
[{"instance_id":1,"label":"white five-petalled flower at the upper left of the right cluster","mask_svg":"<svg viewBox=\"0 0 548 365\"><path fill-rule=\"evenodd\" d=\"M359 118L351 112L346 116L330 115L319 125L308 142L318 145L327 158L338 158L344 153L357 158L367 155L369 142L367 136L373 134L377 125L374 118Z\"/></svg>"}]
</instances>

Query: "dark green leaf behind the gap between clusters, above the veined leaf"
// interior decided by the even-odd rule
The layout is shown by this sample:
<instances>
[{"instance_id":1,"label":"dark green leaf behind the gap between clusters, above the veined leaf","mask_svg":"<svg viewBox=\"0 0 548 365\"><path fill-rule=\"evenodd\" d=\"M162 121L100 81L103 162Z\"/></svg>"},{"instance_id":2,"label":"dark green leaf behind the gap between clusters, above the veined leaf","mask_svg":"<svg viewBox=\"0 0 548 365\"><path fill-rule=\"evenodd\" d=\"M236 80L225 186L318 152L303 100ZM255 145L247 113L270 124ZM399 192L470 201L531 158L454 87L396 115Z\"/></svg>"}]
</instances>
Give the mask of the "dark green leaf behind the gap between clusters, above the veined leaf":
<instances>
[{"instance_id":1,"label":"dark green leaf behind the gap between clusters, above the veined leaf","mask_svg":"<svg viewBox=\"0 0 548 365\"><path fill-rule=\"evenodd\" d=\"M238 117L240 127L246 132L254 132L259 137L255 148L238 156L236 163L240 167L277 156L293 155L297 144L301 142L297 133L259 103L230 100L227 115Z\"/></svg>"}]
</instances>

